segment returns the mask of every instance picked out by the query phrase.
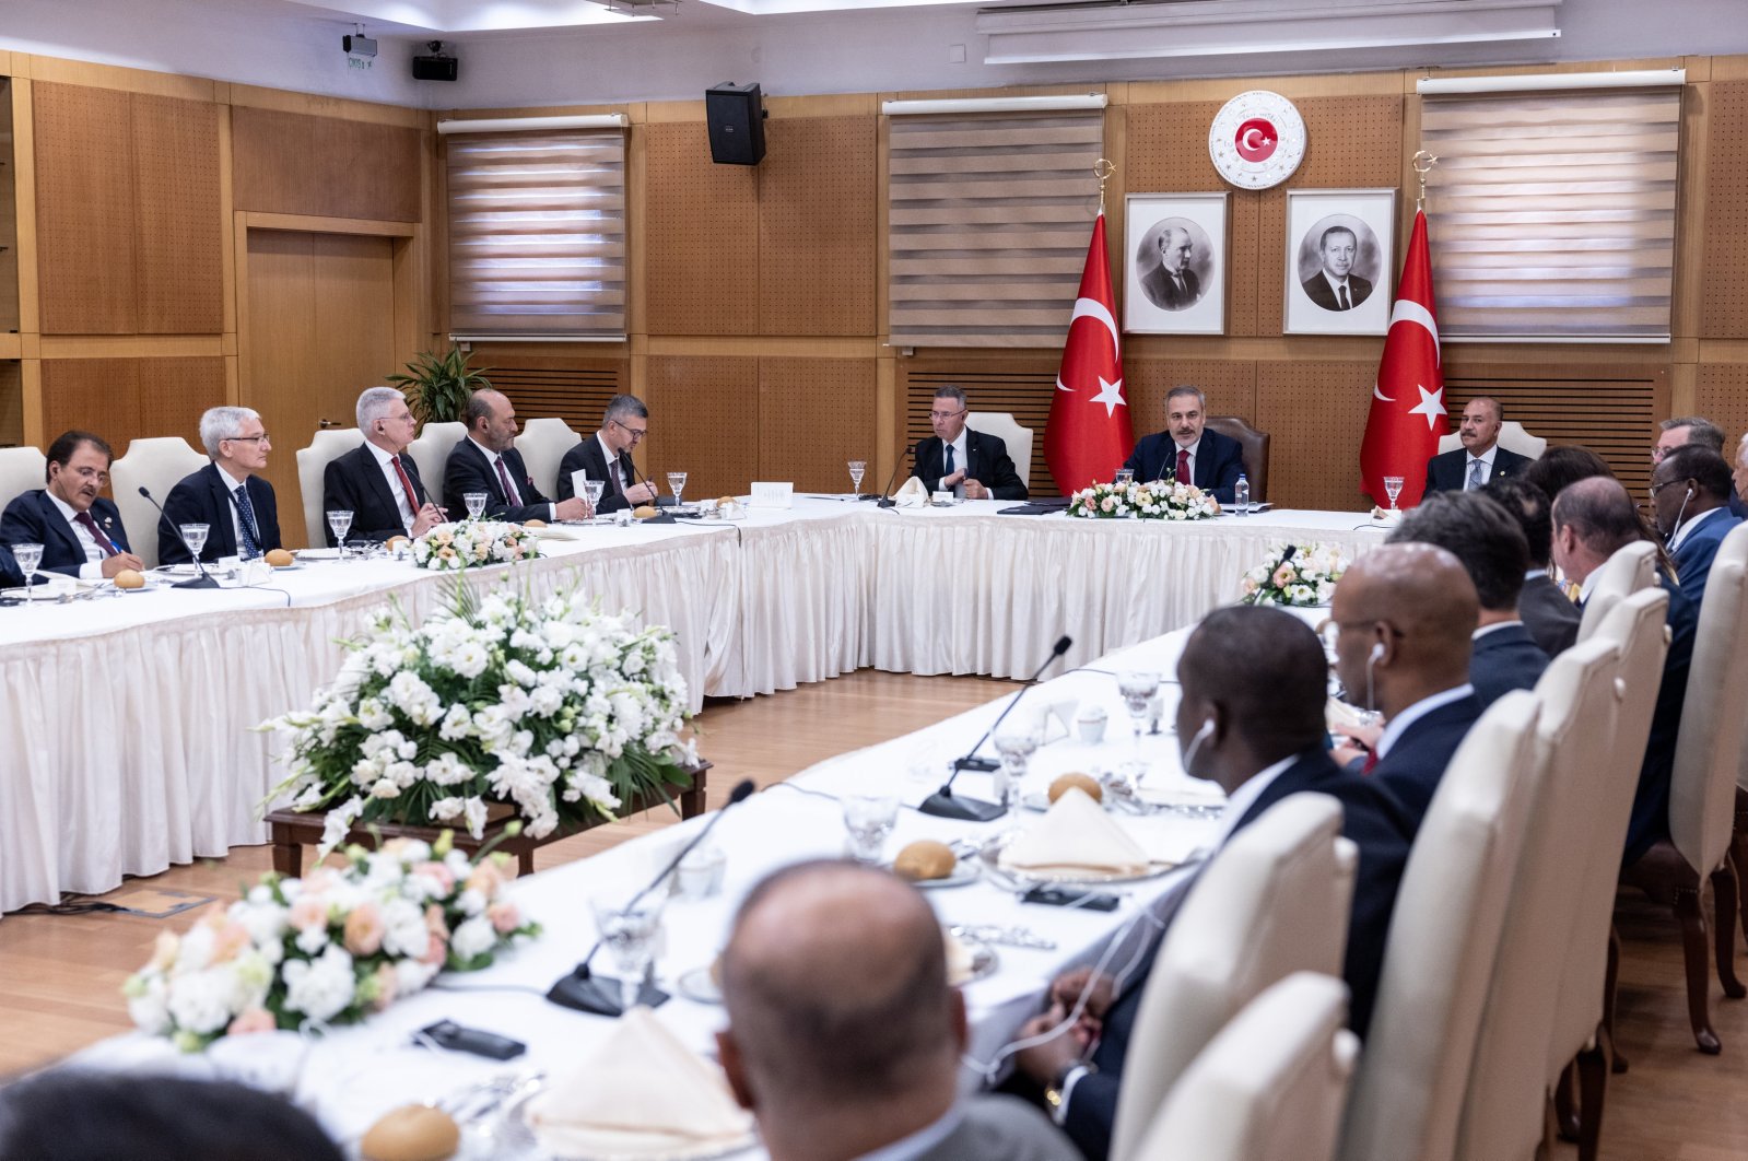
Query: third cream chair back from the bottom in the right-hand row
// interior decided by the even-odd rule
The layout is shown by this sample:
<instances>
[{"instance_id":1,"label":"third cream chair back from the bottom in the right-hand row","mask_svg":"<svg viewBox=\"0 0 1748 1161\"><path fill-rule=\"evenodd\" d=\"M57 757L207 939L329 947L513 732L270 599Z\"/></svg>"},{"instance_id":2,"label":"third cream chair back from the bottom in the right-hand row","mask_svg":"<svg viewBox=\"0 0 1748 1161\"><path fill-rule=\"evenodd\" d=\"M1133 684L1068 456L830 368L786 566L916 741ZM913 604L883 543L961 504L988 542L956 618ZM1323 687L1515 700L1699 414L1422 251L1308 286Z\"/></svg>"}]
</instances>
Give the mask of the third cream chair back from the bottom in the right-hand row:
<instances>
[{"instance_id":1,"label":"third cream chair back from the bottom in the right-hand row","mask_svg":"<svg viewBox=\"0 0 1748 1161\"><path fill-rule=\"evenodd\" d=\"M1342 1126L1344 1161L1449 1161L1463 1086L1530 815L1536 701L1475 722L1432 796L1390 920L1372 1025Z\"/></svg>"}]
</instances>

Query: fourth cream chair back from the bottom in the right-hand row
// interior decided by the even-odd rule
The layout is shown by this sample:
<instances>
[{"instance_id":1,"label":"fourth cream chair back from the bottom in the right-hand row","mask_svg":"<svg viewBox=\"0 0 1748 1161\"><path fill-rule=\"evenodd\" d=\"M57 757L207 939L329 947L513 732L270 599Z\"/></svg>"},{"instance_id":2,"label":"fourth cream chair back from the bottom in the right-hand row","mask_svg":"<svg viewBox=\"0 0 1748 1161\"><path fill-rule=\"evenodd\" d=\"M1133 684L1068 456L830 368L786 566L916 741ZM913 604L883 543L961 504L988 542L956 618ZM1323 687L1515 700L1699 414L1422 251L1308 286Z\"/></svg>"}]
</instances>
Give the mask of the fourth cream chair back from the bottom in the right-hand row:
<instances>
[{"instance_id":1,"label":"fourth cream chair back from the bottom in the right-hand row","mask_svg":"<svg viewBox=\"0 0 1748 1161\"><path fill-rule=\"evenodd\" d=\"M1580 642L1554 657L1535 687L1542 713L1535 761L1523 771L1533 797L1468 1070L1460 1158L1530 1158L1542 1142L1573 904L1591 850L1626 843L1624 813L1612 811L1617 832L1599 832L1605 796L1596 785L1613 752L1619 668L1613 642Z\"/></svg>"}]
</instances>

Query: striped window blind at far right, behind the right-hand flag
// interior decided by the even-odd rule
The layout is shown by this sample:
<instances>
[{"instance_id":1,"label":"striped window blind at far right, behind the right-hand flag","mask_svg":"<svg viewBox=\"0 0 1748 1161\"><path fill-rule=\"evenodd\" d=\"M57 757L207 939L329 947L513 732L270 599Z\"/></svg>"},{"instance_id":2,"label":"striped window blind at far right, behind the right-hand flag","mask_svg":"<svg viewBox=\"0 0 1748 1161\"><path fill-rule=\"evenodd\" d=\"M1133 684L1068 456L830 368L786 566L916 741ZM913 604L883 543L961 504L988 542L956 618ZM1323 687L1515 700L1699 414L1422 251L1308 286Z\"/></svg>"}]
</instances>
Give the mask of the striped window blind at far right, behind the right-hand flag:
<instances>
[{"instance_id":1,"label":"striped window blind at far right, behind the right-hand flag","mask_svg":"<svg viewBox=\"0 0 1748 1161\"><path fill-rule=\"evenodd\" d=\"M1680 86L1425 96L1447 339L1669 337Z\"/></svg>"}]
</instances>

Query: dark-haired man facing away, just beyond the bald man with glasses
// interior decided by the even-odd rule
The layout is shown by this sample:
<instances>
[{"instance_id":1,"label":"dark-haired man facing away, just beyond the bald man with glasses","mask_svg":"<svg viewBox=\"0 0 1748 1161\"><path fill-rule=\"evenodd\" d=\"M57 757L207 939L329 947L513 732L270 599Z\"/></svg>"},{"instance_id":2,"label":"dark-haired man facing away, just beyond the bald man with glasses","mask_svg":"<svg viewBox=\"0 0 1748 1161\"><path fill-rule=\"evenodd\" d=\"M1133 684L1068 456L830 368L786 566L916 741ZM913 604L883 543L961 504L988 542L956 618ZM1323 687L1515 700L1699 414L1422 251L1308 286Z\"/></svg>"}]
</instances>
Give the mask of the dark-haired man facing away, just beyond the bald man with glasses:
<instances>
[{"instance_id":1,"label":"dark-haired man facing away, just beyond the bald man with glasses","mask_svg":"<svg viewBox=\"0 0 1748 1161\"><path fill-rule=\"evenodd\" d=\"M1402 518L1388 544L1437 544L1463 561L1475 582L1481 622L1468 684L1481 708L1514 689L1535 689L1549 657L1517 615L1530 546L1498 500L1484 491L1435 491Z\"/></svg>"}]
</instances>

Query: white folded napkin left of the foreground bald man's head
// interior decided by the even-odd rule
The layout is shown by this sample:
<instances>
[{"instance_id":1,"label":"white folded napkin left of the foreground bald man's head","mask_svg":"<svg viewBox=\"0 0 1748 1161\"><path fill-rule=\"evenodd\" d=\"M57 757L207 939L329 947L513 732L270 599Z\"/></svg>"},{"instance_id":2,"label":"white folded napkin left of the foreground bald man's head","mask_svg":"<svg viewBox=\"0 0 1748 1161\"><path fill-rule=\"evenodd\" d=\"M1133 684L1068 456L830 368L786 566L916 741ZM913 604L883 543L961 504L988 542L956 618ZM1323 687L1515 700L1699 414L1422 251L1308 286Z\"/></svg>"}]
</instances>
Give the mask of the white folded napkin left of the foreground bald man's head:
<instances>
[{"instance_id":1,"label":"white folded napkin left of the foreground bald man's head","mask_svg":"<svg viewBox=\"0 0 1748 1161\"><path fill-rule=\"evenodd\" d=\"M619 1018L582 1065L528 1102L528 1126L561 1158L715 1156L753 1144L722 1072L647 1007Z\"/></svg>"}]
</instances>

